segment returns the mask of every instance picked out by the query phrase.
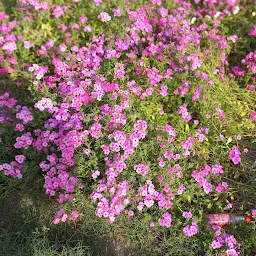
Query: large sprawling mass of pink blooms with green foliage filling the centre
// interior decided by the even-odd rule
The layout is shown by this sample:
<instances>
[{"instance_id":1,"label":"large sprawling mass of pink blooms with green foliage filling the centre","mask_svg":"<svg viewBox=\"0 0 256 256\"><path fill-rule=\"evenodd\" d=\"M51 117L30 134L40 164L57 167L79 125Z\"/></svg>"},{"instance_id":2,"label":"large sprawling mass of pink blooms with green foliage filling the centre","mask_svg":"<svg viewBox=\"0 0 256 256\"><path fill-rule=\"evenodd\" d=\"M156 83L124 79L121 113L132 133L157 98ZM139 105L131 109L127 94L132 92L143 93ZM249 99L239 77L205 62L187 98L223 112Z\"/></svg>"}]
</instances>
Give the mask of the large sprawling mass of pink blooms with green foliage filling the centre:
<instances>
[{"instance_id":1,"label":"large sprawling mass of pink blooms with green foliage filling the centre","mask_svg":"<svg viewBox=\"0 0 256 256\"><path fill-rule=\"evenodd\" d=\"M54 224L79 221L87 200L113 225L144 216L200 236L203 214L232 208L239 171L252 173L255 49L230 66L239 37L220 27L243 6L109 2L20 0L15 20L0 13L1 75L31 95L0 96L1 173L21 179L38 162ZM232 235L211 247L225 243L239 255Z\"/></svg>"}]
</instances>

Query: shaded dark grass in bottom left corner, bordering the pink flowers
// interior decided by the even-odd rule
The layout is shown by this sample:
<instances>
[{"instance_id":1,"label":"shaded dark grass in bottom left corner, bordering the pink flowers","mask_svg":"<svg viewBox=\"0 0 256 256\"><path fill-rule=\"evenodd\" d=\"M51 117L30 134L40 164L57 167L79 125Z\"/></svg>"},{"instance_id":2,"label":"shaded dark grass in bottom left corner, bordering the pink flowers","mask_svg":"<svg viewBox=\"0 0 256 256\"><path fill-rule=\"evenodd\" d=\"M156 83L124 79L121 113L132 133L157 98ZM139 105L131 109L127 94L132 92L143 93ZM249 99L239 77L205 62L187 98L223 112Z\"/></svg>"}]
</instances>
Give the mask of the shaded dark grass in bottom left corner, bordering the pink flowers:
<instances>
[{"instance_id":1,"label":"shaded dark grass in bottom left corner, bordering the pink flowers","mask_svg":"<svg viewBox=\"0 0 256 256\"><path fill-rule=\"evenodd\" d=\"M138 255L104 234L92 209L78 223L53 225L52 202L44 196L36 170L24 182L0 177L0 255L5 256L132 256ZM30 184L30 185L29 185ZM107 239L101 235L105 235Z\"/></svg>"}]
</instances>

